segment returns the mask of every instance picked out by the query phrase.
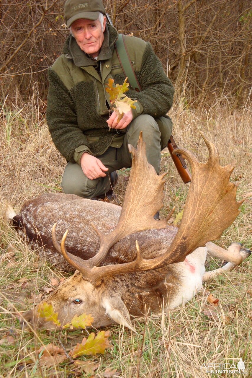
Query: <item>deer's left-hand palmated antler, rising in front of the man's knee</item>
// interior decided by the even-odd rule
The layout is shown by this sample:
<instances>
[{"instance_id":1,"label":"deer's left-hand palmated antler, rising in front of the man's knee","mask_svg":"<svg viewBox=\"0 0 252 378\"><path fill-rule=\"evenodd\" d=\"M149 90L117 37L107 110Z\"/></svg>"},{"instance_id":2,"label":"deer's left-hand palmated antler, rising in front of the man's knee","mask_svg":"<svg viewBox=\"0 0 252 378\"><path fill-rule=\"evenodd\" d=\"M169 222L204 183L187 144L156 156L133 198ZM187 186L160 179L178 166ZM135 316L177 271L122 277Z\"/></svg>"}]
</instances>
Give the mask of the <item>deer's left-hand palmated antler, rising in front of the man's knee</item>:
<instances>
[{"instance_id":1,"label":"deer's left-hand palmated antler, rising in front of the man's knee","mask_svg":"<svg viewBox=\"0 0 252 378\"><path fill-rule=\"evenodd\" d=\"M100 237L100 248L94 257L85 262L89 268L99 266L110 247L123 237L137 231L166 227L165 219L157 221L153 218L163 205L166 173L158 176L153 166L147 162L142 132L139 135L137 150L130 144L128 149L133 155L133 160L121 215L116 228L110 234L102 234L93 225Z\"/></svg>"}]
</instances>

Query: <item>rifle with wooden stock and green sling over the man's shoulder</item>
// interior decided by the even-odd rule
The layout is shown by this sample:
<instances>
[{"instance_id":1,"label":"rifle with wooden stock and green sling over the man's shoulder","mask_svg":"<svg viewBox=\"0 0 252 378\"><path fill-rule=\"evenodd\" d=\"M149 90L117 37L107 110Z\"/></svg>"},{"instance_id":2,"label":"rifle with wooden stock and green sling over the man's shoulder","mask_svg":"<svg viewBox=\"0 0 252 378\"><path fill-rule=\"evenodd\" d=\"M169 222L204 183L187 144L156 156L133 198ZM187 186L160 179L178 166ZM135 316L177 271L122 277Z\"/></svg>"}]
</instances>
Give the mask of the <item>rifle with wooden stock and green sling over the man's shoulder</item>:
<instances>
[{"instance_id":1,"label":"rifle with wooden stock and green sling over the man's shoulder","mask_svg":"<svg viewBox=\"0 0 252 378\"><path fill-rule=\"evenodd\" d=\"M111 26L113 26L113 23L108 13L106 13L106 17L108 23ZM119 34L119 38L115 43L115 48L122 66L122 70L124 71L125 77L128 77L128 82L130 83L131 87L137 91L141 91L141 87L139 85L138 79L136 78L135 71L131 65L131 60L128 56L127 47L124 43L122 34ZM174 155L172 153L176 148L178 148L172 135L170 136L170 139L167 143L167 148L170 152L170 155L172 156L172 160L175 164L176 169L178 170L180 177L182 178L185 184L190 183L190 181L192 180L192 175L190 174L190 171L187 168L186 161L184 160L184 158L182 158L181 153L175 153Z\"/></svg>"}]
</instances>

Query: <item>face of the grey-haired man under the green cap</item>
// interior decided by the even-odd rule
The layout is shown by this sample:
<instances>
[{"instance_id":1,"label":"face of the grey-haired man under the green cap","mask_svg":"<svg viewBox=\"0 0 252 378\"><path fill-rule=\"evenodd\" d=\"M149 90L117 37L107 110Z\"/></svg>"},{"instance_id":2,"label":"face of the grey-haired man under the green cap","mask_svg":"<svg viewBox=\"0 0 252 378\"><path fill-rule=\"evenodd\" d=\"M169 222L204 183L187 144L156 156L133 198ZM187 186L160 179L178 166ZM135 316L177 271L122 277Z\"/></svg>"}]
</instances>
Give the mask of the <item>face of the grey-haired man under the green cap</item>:
<instances>
[{"instance_id":1,"label":"face of the grey-haired man under the green cap","mask_svg":"<svg viewBox=\"0 0 252 378\"><path fill-rule=\"evenodd\" d=\"M91 21L79 19L72 23L71 31L76 39L77 45L84 53L96 58L104 41L106 19L103 27L99 20Z\"/></svg>"}]
</instances>

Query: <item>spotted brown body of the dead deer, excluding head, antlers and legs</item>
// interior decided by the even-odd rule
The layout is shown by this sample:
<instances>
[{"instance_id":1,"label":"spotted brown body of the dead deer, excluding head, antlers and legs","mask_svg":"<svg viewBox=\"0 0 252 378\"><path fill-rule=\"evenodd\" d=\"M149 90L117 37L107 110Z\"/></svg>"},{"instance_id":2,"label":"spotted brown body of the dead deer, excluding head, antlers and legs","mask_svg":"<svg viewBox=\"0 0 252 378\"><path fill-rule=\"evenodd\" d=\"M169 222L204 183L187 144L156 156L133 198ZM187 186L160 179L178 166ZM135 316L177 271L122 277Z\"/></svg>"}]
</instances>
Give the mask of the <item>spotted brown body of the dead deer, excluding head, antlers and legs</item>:
<instances>
[{"instance_id":1,"label":"spotted brown body of the dead deer, excluding head, antlers and legs","mask_svg":"<svg viewBox=\"0 0 252 378\"><path fill-rule=\"evenodd\" d=\"M58 269L73 272L73 266L53 246L51 229L54 222L57 223L60 240L65 230L69 229L67 250L87 260L96 254L100 243L91 223L108 234L116 227L120 214L121 207L111 203L71 194L43 194L27 201L20 213L13 217L12 224L41 258L46 258ZM134 260L136 240L145 259L160 256L172 243L177 231L174 226L166 226L165 229L150 229L128 235L110 248L104 263L119 264ZM160 311L168 294L169 308L173 308L192 299L196 290L202 287L206 253L206 248L198 248L186 262L170 264L151 273L125 274L118 276L119 280L113 277L107 286L121 293L122 301L131 308L130 313L134 316L143 314L142 296L156 312ZM144 292L148 294L145 296Z\"/></svg>"}]
</instances>

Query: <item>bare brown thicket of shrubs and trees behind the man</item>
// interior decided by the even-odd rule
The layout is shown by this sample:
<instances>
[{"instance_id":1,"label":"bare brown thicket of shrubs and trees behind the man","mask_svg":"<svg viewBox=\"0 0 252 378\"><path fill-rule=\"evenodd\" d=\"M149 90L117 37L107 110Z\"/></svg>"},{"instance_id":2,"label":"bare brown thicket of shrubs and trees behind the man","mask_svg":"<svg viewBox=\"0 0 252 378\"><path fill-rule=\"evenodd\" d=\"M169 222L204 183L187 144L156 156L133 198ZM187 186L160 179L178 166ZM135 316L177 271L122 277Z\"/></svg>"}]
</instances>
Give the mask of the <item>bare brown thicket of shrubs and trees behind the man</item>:
<instances>
[{"instance_id":1,"label":"bare brown thicket of shrubs and trees behind the man","mask_svg":"<svg viewBox=\"0 0 252 378\"><path fill-rule=\"evenodd\" d=\"M2 100L45 101L47 68L69 34L62 0L2 0L0 72ZM213 106L216 98L243 106L251 86L249 0L104 0L119 33L152 43L186 104ZM43 108L43 105L41 104Z\"/></svg>"}]
</instances>

